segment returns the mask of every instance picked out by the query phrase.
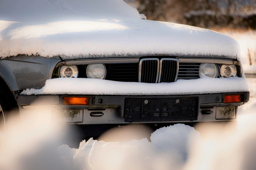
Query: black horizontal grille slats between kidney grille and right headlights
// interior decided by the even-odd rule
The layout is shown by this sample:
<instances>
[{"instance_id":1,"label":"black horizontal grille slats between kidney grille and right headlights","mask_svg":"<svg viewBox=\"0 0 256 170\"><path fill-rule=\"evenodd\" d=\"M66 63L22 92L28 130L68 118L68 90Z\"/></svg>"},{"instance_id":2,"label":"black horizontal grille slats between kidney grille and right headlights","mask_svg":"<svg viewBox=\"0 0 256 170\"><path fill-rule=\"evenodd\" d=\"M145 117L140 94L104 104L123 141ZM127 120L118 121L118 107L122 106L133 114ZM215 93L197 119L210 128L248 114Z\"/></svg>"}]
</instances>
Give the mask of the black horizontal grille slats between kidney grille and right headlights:
<instances>
[{"instance_id":1,"label":"black horizontal grille slats between kidney grille and right headlights","mask_svg":"<svg viewBox=\"0 0 256 170\"><path fill-rule=\"evenodd\" d=\"M200 63L181 63L177 79L197 79L199 78Z\"/></svg>"}]
</instances>

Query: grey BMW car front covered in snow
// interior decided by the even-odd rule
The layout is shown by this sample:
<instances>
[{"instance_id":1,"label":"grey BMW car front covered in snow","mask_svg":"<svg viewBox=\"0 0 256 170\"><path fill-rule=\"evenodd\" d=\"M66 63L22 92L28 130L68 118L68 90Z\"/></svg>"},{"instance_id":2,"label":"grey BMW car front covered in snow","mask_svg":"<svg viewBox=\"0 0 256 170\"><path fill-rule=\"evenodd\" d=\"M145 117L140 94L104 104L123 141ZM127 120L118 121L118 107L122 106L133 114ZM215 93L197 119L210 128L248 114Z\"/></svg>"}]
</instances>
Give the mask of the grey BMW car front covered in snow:
<instances>
[{"instance_id":1,"label":"grey BMW car front covered in snow","mask_svg":"<svg viewBox=\"0 0 256 170\"><path fill-rule=\"evenodd\" d=\"M17 107L76 125L236 121L249 100L229 36L142 20L121 0L1 3L2 127Z\"/></svg>"}]
</instances>

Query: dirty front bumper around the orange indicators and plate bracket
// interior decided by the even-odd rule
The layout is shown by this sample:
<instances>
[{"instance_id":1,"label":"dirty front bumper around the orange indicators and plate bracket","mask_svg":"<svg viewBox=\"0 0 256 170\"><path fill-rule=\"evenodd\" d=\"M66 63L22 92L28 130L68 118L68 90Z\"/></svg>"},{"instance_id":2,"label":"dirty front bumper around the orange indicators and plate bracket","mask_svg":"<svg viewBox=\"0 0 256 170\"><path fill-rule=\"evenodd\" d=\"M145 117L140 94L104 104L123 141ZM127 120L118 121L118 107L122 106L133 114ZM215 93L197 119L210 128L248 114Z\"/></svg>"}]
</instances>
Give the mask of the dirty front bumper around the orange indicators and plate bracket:
<instances>
[{"instance_id":1,"label":"dirty front bumper around the orange indicators and plate bracket","mask_svg":"<svg viewBox=\"0 0 256 170\"><path fill-rule=\"evenodd\" d=\"M225 94L241 94L240 103L224 103ZM89 106L64 105L65 96L87 96ZM198 98L197 118L194 120L150 121L150 123L185 123L237 120L237 107L249 100L249 92L190 94L190 95L18 95L17 104L23 113L50 110L52 119L67 124L127 124L147 121L125 121L125 101L132 99Z\"/></svg>"}]
</instances>

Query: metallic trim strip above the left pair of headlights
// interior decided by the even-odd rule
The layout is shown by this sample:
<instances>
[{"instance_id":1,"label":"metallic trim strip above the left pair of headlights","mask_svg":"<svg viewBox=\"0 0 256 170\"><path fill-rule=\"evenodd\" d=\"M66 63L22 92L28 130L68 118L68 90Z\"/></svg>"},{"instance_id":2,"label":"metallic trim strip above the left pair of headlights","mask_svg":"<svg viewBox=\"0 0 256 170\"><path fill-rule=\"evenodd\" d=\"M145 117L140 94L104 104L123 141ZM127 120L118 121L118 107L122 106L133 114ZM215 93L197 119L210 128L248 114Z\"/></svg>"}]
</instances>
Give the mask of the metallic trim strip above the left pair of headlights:
<instances>
[{"instance_id":1,"label":"metallic trim strip above the left pair of headlights","mask_svg":"<svg viewBox=\"0 0 256 170\"><path fill-rule=\"evenodd\" d=\"M116 63L139 63L140 58L102 58L102 59L81 59L62 61L56 67L63 65L79 65L79 64L116 64Z\"/></svg>"}]
</instances>

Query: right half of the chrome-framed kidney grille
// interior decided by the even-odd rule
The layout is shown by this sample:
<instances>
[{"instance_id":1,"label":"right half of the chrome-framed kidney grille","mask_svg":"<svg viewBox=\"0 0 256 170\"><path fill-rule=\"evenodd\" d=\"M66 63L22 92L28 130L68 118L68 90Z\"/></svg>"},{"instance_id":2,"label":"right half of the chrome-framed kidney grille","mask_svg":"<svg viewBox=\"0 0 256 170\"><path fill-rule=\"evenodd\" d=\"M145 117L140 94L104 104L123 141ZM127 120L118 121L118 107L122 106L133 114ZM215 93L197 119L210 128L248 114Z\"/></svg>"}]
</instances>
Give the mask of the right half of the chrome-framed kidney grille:
<instances>
[{"instance_id":1,"label":"right half of the chrome-framed kidney grille","mask_svg":"<svg viewBox=\"0 0 256 170\"><path fill-rule=\"evenodd\" d=\"M160 73L158 82L170 83L177 79L179 70L179 60L173 58L162 58L160 60Z\"/></svg>"}]
</instances>

